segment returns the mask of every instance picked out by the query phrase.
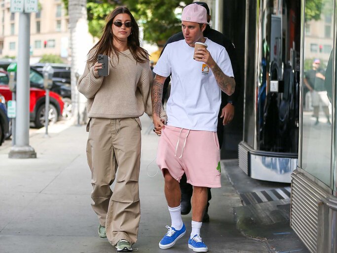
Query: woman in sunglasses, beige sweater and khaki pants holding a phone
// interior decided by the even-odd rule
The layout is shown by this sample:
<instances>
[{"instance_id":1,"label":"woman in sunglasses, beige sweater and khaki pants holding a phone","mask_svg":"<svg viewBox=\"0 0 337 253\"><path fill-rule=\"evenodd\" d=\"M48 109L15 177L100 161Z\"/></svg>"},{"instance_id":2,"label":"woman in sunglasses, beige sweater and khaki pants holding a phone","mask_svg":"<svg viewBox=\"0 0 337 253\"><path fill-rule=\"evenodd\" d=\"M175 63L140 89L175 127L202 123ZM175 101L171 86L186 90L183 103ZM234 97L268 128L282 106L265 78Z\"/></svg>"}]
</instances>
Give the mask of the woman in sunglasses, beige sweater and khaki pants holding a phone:
<instances>
[{"instance_id":1,"label":"woman in sunglasses, beige sweater and khaki pants holding a phone","mask_svg":"<svg viewBox=\"0 0 337 253\"><path fill-rule=\"evenodd\" d=\"M87 160L91 169L92 208L97 213L100 237L108 237L119 252L132 251L140 221L138 178L141 122L151 116L147 51L140 47L139 29L131 12L116 8L106 19L102 38L90 49L79 92L88 99ZM97 62L108 55L108 66ZM98 70L109 68L102 77ZM163 110L162 110L163 112ZM163 115L164 116L164 115ZM114 190L110 185L115 180Z\"/></svg>"}]
</instances>

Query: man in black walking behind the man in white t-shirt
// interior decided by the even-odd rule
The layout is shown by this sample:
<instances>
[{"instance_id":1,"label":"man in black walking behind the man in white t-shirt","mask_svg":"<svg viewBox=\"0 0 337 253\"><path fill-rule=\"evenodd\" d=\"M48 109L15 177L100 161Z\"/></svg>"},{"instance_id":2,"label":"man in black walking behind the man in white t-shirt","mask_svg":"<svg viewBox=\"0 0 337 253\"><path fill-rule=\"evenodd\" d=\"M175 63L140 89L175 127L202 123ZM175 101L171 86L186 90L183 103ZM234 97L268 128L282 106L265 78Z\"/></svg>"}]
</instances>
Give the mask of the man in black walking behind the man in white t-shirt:
<instances>
[{"instance_id":1,"label":"man in black walking behind the man in white t-shirt","mask_svg":"<svg viewBox=\"0 0 337 253\"><path fill-rule=\"evenodd\" d=\"M207 3L206 2L194 2L194 3L202 5L206 8L207 22L209 22L211 20L211 16L210 16L210 10L209 10ZM232 69L234 73L234 79L235 79L235 91L231 96L228 96L227 94L225 94L225 92L221 92L221 107L220 107L221 109L220 109L219 116L218 116L218 128L217 128L219 146L221 148L223 144L223 140L224 140L224 126L230 123L234 117L234 106L235 106L235 103L237 102L237 98L240 93L239 91L240 75L239 75L239 70L237 66L235 47L233 43L230 40L228 40L222 33L212 29L209 25L206 26L206 29L204 31L204 37L225 47L229 55L230 61L231 61L231 65L232 65ZM177 42L180 40L184 40L184 35L182 32L171 36L167 40L161 53L164 51L167 44L171 42ZM170 77L168 77L164 83L163 98L162 98L163 104L164 104L164 99L167 93L167 87L170 81L171 79ZM180 188L182 192L181 213L186 215L191 210L191 197L193 193L193 188L190 184L187 183L187 178L185 174L180 180ZM209 207L209 201L211 200L211 198L212 198L211 189L208 188L208 203L207 203L207 207L206 207L206 210L203 216L203 220L202 220L203 222L209 221L208 207Z\"/></svg>"}]
</instances>

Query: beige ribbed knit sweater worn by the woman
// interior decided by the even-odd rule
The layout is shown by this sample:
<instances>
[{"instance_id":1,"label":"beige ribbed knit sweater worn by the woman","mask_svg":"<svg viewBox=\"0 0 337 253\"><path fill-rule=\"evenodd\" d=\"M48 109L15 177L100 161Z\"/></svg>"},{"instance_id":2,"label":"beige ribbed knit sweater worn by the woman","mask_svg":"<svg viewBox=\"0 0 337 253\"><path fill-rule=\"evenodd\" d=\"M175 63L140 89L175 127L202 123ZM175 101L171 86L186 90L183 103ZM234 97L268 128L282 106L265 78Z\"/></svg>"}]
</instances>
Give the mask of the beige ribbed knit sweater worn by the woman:
<instances>
[{"instance_id":1,"label":"beige ribbed knit sweater worn by the woman","mask_svg":"<svg viewBox=\"0 0 337 253\"><path fill-rule=\"evenodd\" d=\"M128 49L119 52L118 59L111 56L107 77L96 75L93 65L86 64L77 82L78 91L88 99L89 118L136 118L144 111L152 116L153 77L149 62L137 62ZM163 109L160 116L166 116Z\"/></svg>"}]
</instances>

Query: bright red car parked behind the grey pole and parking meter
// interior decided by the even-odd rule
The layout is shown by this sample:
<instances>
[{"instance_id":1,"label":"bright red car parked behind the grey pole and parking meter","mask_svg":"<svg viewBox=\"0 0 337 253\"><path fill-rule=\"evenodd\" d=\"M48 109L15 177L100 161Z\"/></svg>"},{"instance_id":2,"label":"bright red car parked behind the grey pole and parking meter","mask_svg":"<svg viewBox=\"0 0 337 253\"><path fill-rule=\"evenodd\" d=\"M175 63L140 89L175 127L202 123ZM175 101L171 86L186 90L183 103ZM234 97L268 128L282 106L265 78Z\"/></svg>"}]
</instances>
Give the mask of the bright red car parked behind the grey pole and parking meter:
<instances>
[{"instance_id":1,"label":"bright red car parked behind the grey pole and parking meter","mask_svg":"<svg viewBox=\"0 0 337 253\"><path fill-rule=\"evenodd\" d=\"M30 76L30 81L35 81L35 76ZM5 71L0 71L0 94L2 94L6 101L12 99L12 92L8 87L8 76ZM49 123L55 123L61 119L63 112L62 97L53 92L49 92ZM30 120L34 122L35 127L40 128L44 126L44 111L45 111L45 90L40 88L30 88Z\"/></svg>"}]
</instances>

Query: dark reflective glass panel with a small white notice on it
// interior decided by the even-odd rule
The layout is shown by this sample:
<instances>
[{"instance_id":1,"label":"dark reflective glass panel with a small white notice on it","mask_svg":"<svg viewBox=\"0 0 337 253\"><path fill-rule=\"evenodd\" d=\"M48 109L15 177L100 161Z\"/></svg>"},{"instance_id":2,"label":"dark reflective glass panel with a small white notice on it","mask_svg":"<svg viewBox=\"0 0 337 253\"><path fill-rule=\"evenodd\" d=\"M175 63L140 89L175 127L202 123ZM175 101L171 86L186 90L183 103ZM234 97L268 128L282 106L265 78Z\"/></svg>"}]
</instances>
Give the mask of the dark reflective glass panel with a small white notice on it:
<instances>
[{"instance_id":1,"label":"dark reflective glass panel with a small white notice on it","mask_svg":"<svg viewBox=\"0 0 337 253\"><path fill-rule=\"evenodd\" d=\"M259 30L257 149L298 154L300 0L264 0ZM308 31L310 29L310 31ZM307 27L311 33L311 27Z\"/></svg>"}]
</instances>

